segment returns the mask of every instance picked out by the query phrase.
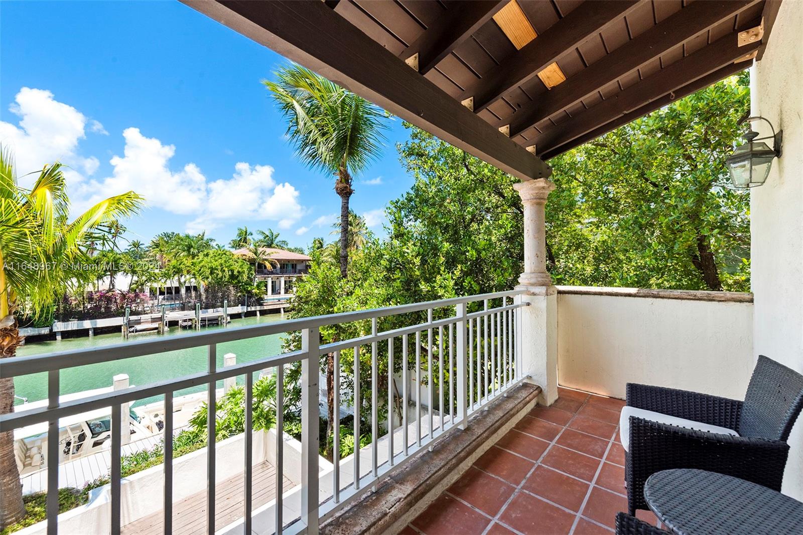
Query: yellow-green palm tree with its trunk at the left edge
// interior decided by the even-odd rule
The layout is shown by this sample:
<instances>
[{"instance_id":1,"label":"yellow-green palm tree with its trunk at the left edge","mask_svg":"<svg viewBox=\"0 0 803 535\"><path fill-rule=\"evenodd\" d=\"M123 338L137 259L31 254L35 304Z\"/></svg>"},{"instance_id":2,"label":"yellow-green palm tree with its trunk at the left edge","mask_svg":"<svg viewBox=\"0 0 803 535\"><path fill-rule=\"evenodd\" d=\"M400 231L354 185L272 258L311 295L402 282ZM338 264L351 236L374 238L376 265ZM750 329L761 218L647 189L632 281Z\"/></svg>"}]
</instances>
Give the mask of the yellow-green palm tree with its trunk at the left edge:
<instances>
[{"instance_id":1,"label":"yellow-green palm tree with its trunk at the left edge","mask_svg":"<svg viewBox=\"0 0 803 535\"><path fill-rule=\"evenodd\" d=\"M53 296L84 281L94 241L108 239L109 226L136 213L142 197L128 192L92 206L68 221L70 201L61 164L46 165L33 188L18 185L10 152L0 147L0 358L16 355L22 342L14 315L19 308L41 314ZM19 265L43 265L22 270ZM14 379L0 379L0 414L14 407ZM56 461L53 461L56 462ZM14 432L0 433L0 529L25 516L14 460Z\"/></svg>"}]
</instances>

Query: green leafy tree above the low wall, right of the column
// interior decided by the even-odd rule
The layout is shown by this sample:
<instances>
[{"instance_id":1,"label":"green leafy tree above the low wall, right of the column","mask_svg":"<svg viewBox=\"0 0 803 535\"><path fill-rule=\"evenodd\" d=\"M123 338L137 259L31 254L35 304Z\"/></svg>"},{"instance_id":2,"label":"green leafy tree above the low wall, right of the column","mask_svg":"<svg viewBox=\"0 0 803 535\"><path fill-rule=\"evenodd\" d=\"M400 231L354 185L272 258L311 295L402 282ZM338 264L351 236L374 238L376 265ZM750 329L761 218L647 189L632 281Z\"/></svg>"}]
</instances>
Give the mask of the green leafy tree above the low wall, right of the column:
<instances>
[{"instance_id":1,"label":"green leafy tree above the low wall, right of the column","mask_svg":"<svg viewBox=\"0 0 803 535\"><path fill-rule=\"evenodd\" d=\"M569 284L748 290L749 195L725 158L749 111L734 76L550 161L547 235Z\"/></svg>"}]
</instances>

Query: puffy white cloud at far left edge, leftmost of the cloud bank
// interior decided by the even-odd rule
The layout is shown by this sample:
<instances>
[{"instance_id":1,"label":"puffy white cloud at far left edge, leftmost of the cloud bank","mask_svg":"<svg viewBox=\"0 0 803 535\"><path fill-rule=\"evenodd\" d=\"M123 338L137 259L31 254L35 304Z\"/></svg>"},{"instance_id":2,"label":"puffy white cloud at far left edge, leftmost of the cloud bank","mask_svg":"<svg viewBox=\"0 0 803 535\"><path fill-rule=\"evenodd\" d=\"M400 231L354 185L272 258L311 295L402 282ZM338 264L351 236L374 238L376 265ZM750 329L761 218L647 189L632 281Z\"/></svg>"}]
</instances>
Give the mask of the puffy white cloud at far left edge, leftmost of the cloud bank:
<instances>
[{"instance_id":1,"label":"puffy white cloud at far left edge, leftmost of the cloud bank","mask_svg":"<svg viewBox=\"0 0 803 535\"><path fill-rule=\"evenodd\" d=\"M55 161L71 167L65 175L72 182L83 180L79 170L88 175L97 170L97 158L77 153L79 140L86 137L87 118L75 107L56 101L51 91L22 87L9 111L20 118L19 125L0 121L0 143L13 150L23 186L35 180L23 175Z\"/></svg>"}]
</instances>

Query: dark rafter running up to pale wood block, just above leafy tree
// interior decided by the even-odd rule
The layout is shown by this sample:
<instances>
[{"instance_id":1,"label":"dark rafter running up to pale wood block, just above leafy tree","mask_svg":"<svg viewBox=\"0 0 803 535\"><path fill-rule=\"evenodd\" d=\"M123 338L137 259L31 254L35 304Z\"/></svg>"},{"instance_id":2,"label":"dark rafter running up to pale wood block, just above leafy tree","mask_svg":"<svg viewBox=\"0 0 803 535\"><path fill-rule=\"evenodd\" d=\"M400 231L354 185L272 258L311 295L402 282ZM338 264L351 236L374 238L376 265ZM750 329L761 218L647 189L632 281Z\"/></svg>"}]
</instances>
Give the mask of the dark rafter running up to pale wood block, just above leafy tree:
<instances>
[{"instance_id":1,"label":"dark rafter running up to pale wood block, just above leafy tree","mask_svg":"<svg viewBox=\"0 0 803 535\"><path fill-rule=\"evenodd\" d=\"M715 43L679 59L669 67L664 67L654 75L628 87L625 91L620 91L596 106L577 113L577 116L572 119L556 125L543 136L536 137L539 153L544 155L552 153L556 148L569 144L584 134L609 124L618 117L638 110L664 95L671 94L689 83L689 80L696 81L714 71L732 65L735 59L760 47L760 41L740 47L738 35L739 33L736 31L731 32L717 39ZM744 68L744 66L742 67ZM680 80L683 80L683 83L679 85Z\"/></svg>"}]
</instances>

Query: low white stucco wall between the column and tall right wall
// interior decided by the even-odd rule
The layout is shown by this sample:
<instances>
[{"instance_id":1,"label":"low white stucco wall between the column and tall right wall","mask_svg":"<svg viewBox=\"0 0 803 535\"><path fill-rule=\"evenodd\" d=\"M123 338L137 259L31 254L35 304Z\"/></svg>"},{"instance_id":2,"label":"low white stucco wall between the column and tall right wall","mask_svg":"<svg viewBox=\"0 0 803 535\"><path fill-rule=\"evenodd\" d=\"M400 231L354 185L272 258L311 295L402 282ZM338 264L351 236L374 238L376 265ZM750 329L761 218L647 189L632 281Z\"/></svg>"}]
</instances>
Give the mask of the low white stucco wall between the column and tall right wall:
<instances>
[{"instance_id":1,"label":"low white stucco wall between the column and tall right wall","mask_svg":"<svg viewBox=\"0 0 803 535\"><path fill-rule=\"evenodd\" d=\"M557 303L560 385L622 399L626 383L744 399L752 303L560 290Z\"/></svg>"}]
</instances>

